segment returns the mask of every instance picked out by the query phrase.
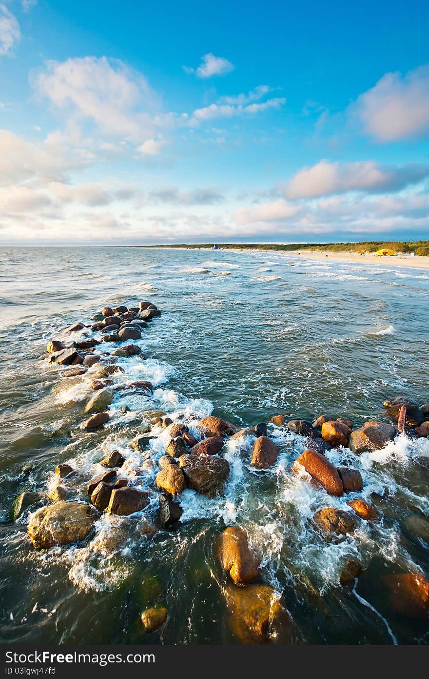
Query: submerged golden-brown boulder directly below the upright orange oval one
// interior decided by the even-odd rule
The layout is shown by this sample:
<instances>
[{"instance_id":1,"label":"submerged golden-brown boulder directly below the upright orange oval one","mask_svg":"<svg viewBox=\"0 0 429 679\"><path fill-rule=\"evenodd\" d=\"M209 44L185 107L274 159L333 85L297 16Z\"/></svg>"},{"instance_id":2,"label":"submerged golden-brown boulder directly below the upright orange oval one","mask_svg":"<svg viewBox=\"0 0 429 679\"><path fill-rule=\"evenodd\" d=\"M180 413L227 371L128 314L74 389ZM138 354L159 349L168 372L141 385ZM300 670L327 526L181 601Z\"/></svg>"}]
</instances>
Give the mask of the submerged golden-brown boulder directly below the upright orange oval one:
<instances>
[{"instance_id":1,"label":"submerged golden-brown boulder directly below the upright orange oval one","mask_svg":"<svg viewBox=\"0 0 429 679\"><path fill-rule=\"evenodd\" d=\"M277 591L269 585L253 583L247 587L229 585L223 593L230 628L242 644L285 643L290 622Z\"/></svg>"}]
</instances>

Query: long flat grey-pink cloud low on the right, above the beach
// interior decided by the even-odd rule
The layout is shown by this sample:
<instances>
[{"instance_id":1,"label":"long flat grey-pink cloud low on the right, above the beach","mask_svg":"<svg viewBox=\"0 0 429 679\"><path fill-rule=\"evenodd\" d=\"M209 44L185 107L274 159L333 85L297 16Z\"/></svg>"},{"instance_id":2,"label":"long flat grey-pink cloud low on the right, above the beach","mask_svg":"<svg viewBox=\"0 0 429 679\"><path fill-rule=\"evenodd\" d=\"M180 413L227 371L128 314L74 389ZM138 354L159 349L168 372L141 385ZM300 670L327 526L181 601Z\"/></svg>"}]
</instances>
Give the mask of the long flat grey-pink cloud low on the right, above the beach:
<instances>
[{"instance_id":1,"label":"long flat grey-pink cloud low on the right, above the beach","mask_svg":"<svg viewBox=\"0 0 429 679\"><path fill-rule=\"evenodd\" d=\"M348 191L383 193L399 191L429 176L429 166L405 165L402 168L377 164L373 160L340 164L321 160L297 172L285 187L285 196L313 198Z\"/></svg>"}]
</instances>

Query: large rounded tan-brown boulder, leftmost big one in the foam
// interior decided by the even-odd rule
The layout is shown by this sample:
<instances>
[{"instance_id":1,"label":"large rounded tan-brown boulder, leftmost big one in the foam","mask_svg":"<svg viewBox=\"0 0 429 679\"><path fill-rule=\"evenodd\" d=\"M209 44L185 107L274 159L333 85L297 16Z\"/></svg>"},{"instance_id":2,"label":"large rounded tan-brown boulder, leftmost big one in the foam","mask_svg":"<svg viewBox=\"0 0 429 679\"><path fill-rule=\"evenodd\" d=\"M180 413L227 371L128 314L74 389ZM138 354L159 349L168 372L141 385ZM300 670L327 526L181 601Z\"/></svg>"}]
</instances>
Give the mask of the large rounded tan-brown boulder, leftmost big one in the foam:
<instances>
[{"instance_id":1,"label":"large rounded tan-brown boulder, leftmost big one in the foam","mask_svg":"<svg viewBox=\"0 0 429 679\"><path fill-rule=\"evenodd\" d=\"M71 545L84 540L97 519L94 507L83 502L56 502L30 517L28 535L35 549Z\"/></svg>"}]
</instances>

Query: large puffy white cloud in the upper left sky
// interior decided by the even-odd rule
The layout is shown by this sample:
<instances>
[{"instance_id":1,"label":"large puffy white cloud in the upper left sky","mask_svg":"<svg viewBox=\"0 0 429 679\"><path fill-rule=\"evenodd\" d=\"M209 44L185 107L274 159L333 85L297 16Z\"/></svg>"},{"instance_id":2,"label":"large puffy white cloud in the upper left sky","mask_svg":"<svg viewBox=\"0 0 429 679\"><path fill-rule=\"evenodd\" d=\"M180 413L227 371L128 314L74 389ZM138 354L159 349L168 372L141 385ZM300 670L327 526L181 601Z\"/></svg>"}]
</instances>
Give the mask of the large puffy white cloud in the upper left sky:
<instances>
[{"instance_id":1,"label":"large puffy white cloud in the upper left sky","mask_svg":"<svg viewBox=\"0 0 429 679\"><path fill-rule=\"evenodd\" d=\"M131 141L151 139L157 98L146 78L105 56L48 61L33 84L69 122L91 122L101 134Z\"/></svg>"}]
</instances>

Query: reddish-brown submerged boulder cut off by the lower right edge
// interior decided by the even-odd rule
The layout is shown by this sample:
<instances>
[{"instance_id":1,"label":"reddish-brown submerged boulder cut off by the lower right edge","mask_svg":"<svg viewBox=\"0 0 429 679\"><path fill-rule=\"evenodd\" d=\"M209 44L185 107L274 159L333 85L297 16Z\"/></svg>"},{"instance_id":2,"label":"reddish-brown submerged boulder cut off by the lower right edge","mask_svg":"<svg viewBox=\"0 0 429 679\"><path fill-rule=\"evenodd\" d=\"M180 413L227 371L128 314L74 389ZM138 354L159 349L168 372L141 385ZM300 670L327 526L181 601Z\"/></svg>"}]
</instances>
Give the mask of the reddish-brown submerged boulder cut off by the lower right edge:
<instances>
[{"instance_id":1,"label":"reddish-brown submerged boulder cut off by the lower right edge","mask_svg":"<svg viewBox=\"0 0 429 679\"><path fill-rule=\"evenodd\" d=\"M429 615L429 582L420 573L398 573L384 578L390 594L390 605L407 617L427 619Z\"/></svg>"}]
</instances>

